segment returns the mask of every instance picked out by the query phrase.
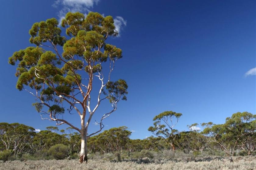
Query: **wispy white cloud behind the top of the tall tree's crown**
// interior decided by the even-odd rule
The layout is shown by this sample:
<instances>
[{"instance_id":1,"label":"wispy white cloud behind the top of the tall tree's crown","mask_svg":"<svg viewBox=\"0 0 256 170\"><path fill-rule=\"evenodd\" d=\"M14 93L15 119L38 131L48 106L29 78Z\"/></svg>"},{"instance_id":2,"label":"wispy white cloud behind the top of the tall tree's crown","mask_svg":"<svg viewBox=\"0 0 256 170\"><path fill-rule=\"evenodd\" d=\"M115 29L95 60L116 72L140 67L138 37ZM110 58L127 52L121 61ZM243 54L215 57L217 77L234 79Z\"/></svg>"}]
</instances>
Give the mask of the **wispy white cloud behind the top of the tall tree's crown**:
<instances>
[{"instance_id":1,"label":"wispy white cloud behind the top of the tall tree's crown","mask_svg":"<svg viewBox=\"0 0 256 170\"><path fill-rule=\"evenodd\" d=\"M67 12L81 12L84 15L87 15L90 12L94 5L97 5L99 0L56 0L53 3L53 7L60 8L58 12L59 17L59 26L62 19L65 18ZM102 14L104 16L104 14ZM121 16L116 16L114 18L114 25L116 26L116 31L119 33L126 26L127 21Z\"/></svg>"}]
</instances>

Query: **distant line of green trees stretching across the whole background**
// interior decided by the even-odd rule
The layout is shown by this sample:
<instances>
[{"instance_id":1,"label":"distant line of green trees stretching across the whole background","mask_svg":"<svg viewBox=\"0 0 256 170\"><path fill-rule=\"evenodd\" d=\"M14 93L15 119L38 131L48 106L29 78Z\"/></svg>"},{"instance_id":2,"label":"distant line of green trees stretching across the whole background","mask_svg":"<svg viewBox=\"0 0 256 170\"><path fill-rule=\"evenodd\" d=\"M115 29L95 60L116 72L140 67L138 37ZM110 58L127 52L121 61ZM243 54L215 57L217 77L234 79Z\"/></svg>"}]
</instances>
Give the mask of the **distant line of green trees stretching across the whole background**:
<instances>
[{"instance_id":1,"label":"distant line of green trees stretching across the whole background","mask_svg":"<svg viewBox=\"0 0 256 170\"><path fill-rule=\"evenodd\" d=\"M130 139L132 132L125 126L105 130L88 138L88 154L114 153L118 159L124 153L129 156L143 150L197 154L222 152L227 156L234 156L240 150L244 155L256 154L256 115L237 112L227 117L224 124L202 123L202 131L195 128L198 124L192 124L188 125L189 131L179 132L174 126L181 115L172 111L157 115L153 119L154 127L148 129L155 137L146 139ZM79 133L73 132L71 127L60 131L58 127L46 129L36 133L33 127L24 124L0 123L0 159L1 154L2 157L9 154L16 158L24 154L41 158L78 158L81 149Z\"/></svg>"}]
</instances>

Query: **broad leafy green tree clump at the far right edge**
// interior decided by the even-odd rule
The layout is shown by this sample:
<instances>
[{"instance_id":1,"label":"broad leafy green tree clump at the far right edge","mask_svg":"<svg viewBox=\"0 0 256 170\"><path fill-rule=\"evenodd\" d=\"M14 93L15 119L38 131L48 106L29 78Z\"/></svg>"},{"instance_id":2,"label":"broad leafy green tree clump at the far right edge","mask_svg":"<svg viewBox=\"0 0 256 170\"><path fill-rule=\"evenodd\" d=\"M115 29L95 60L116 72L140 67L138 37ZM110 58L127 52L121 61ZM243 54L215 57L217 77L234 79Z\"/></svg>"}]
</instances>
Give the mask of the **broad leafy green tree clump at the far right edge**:
<instances>
[{"instance_id":1,"label":"broad leafy green tree clump at the far right edge","mask_svg":"<svg viewBox=\"0 0 256 170\"><path fill-rule=\"evenodd\" d=\"M255 130L256 115L248 112L237 112L226 118L224 124L206 127L203 134L212 137L229 156L234 156L239 145L245 146L247 153L252 154L256 146Z\"/></svg>"}]
</instances>

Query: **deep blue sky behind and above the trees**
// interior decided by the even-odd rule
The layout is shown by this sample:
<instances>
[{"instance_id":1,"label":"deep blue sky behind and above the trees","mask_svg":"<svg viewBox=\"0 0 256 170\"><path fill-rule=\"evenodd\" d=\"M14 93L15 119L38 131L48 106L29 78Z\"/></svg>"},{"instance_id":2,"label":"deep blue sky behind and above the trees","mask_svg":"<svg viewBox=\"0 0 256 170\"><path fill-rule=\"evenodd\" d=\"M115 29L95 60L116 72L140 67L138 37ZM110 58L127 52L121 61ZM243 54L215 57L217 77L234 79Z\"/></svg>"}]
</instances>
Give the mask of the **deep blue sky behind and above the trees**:
<instances>
[{"instance_id":1,"label":"deep blue sky behind and above the trees","mask_svg":"<svg viewBox=\"0 0 256 170\"><path fill-rule=\"evenodd\" d=\"M31 105L34 98L15 88L16 67L8 57L33 46L28 31L34 22L60 19L68 11L112 15L119 28L119 37L108 39L123 50L112 78L126 80L129 94L106 119L105 129L127 126L131 138L142 139L151 135L153 117L166 110L183 114L179 131L193 123L224 123L238 111L256 114L255 5L242 0L2 1L0 122L41 130L55 125L41 120ZM77 115L69 119L79 127ZM92 122L89 132L95 130Z\"/></svg>"}]
</instances>

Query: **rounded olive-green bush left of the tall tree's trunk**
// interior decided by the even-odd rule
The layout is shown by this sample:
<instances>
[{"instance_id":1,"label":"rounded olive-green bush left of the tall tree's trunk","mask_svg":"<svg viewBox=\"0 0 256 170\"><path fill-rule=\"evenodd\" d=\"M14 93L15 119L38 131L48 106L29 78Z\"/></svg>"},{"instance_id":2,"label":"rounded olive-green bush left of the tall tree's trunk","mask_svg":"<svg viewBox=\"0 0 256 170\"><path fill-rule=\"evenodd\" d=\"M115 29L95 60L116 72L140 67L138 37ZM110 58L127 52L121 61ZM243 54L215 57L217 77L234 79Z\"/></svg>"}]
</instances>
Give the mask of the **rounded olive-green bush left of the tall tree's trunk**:
<instances>
[{"instance_id":1,"label":"rounded olive-green bush left of the tall tree's trunk","mask_svg":"<svg viewBox=\"0 0 256 170\"><path fill-rule=\"evenodd\" d=\"M56 144L48 150L48 154L54 159L65 159L68 157L69 147L64 144Z\"/></svg>"}]
</instances>

